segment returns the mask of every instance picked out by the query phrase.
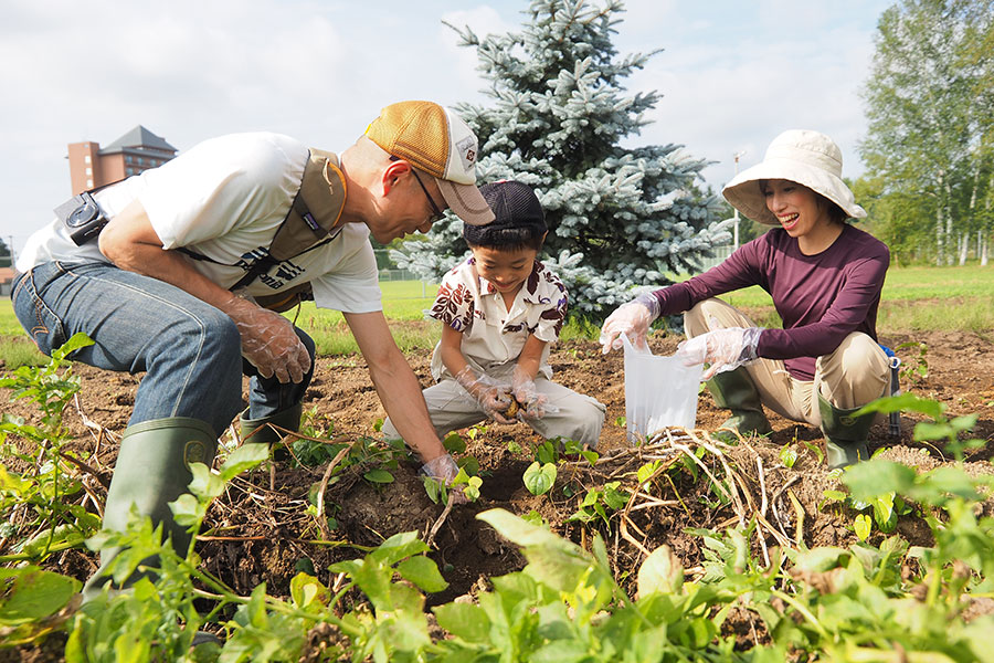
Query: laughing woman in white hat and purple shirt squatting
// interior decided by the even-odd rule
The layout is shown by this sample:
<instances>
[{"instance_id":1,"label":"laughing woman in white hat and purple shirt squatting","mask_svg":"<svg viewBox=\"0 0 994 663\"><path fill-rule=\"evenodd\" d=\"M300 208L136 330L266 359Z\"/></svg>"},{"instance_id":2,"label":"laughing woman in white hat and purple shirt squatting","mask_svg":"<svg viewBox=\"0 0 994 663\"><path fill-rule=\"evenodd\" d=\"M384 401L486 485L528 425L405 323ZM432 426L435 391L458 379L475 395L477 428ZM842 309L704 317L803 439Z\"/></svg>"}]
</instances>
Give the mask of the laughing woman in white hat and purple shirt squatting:
<instances>
[{"instance_id":1,"label":"laughing woman in white hat and purple shirt squatting","mask_svg":"<svg viewBox=\"0 0 994 663\"><path fill-rule=\"evenodd\" d=\"M732 412L725 427L769 433L765 404L819 425L829 467L867 459L874 414L853 413L889 383L876 319L890 252L846 223L866 211L842 180L842 152L817 131L784 131L722 193L747 218L780 228L704 274L618 307L601 333L604 352L620 347L622 334L644 344L653 320L685 312L690 340L677 355L710 364L708 388ZM770 293L783 329L757 327L713 298L750 285Z\"/></svg>"}]
</instances>

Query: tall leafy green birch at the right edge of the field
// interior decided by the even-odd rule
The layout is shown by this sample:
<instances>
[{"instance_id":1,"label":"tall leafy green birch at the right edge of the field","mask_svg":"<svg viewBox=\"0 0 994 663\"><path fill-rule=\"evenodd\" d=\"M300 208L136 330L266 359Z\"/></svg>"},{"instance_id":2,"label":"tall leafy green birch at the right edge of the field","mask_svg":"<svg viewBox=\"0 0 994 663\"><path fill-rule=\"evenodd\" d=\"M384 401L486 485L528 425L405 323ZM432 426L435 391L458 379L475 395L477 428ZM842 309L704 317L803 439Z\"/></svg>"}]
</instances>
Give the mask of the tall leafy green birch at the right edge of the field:
<instances>
[{"instance_id":1,"label":"tall leafy green birch at the right edge of the field","mask_svg":"<svg viewBox=\"0 0 994 663\"><path fill-rule=\"evenodd\" d=\"M877 27L864 88L868 179L928 224L935 264L985 236L977 206L991 187L992 0L901 0ZM907 209L907 206L900 206Z\"/></svg>"}]
</instances>

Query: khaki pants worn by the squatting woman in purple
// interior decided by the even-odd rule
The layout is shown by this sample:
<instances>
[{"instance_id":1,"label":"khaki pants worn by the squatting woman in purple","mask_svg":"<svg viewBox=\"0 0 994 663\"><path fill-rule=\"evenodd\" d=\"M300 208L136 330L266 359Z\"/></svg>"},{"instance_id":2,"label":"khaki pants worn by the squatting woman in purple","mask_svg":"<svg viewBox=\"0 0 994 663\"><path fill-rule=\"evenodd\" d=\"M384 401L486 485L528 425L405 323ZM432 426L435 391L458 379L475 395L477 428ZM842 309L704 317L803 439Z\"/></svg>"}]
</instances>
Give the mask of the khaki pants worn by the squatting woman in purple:
<instances>
[{"instance_id":1,"label":"khaki pants worn by the squatting woman in purple","mask_svg":"<svg viewBox=\"0 0 994 663\"><path fill-rule=\"evenodd\" d=\"M715 328L755 326L740 311L720 299L706 299L684 314L688 338ZM877 341L859 332L849 334L834 352L817 358L812 381L791 377L779 359L757 359L743 368L765 407L781 417L810 425L822 424L818 393L834 407L849 410L886 396L890 386L887 354Z\"/></svg>"}]
</instances>

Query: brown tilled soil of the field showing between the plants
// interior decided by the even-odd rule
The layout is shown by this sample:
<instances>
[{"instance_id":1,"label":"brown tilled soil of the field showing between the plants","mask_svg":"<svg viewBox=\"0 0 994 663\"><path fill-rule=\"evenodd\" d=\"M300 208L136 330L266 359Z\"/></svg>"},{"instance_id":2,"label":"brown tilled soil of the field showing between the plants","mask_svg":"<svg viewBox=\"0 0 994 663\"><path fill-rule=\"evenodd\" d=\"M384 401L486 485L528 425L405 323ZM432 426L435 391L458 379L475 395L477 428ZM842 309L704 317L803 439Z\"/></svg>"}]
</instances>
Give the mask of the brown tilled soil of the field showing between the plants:
<instances>
[{"instance_id":1,"label":"brown tilled soil of the field showing between the plants","mask_svg":"<svg viewBox=\"0 0 994 663\"><path fill-rule=\"evenodd\" d=\"M902 388L916 394L935 399L948 408L949 417L976 413L973 436L985 441L979 450L967 453L971 471L991 472L994 454L994 341L976 334L931 333L881 338L890 347L906 341L924 344L923 360L927 377L905 378ZM675 337L654 338L654 352L670 354L676 349ZM902 351L906 362L921 365L918 347ZM415 373L424 386L431 382L430 352L409 355ZM589 546L594 532L607 544L612 562L620 578L631 577L644 559L645 550L668 544L694 573L701 564L700 539L688 535L688 527L727 527L741 515L737 502L719 504L719 496L710 482L695 482L689 472L674 473L676 481L659 481L653 497L666 504L632 508L626 516L612 516L610 523L582 526L567 519L577 512L586 490L603 487L612 477L634 488L633 472L644 461L639 452L626 442L625 430L618 420L625 415L623 361L620 352L602 356L600 347L590 341L570 341L554 348L551 357L556 379L578 391L595 396L607 406L607 418L599 452L602 461L591 467L585 461L560 467L556 487L547 495L533 496L525 487L521 476L532 461L530 448L540 440L524 424L490 425L464 432L468 441L467 454L479 461L484 483L478 503L457 506L448 514L434 536L433 558L450 582L450 588L429 597L430 603L445 602L457 596L474 593L486 587L486 578L500 576L522 567L524 559L514 546L501 540L488 526L474 518L475 514L493 507L515 514L539 513L562 536ZM83 379L78 403L66 413L66 423L76 435L73 443L78 457L98 474L83 473L91 492L102 502L105 482L116 457L116 440L127 424L138 378L75 366ZM318 360L313 385L307 393L306 408L311 409L309 423L322 436L351 442L376 436L374 422L384 417L382 406L370 382L361 357L326 357ZM6 408L10 413L36 421L33 406L14 401ZM698 427L715 431L727 413L718 410L707 391L698 404ZM803 509L803 539L808 546L846 546L856 540L846 517L838 509L819 509L824 491L836 486L824 463L812 449L823 449L818 430L799 425L771 414L774 432L769 440L753 440L749 444L721 448L730 460L723 467L713 456L708 465L715 473L731 472L732 483L741 484L742 508L759 509L769 498L768 516L778 532L765 533L766 544L776 545L781 535L796 537L797 513L790 496L796 497ZM922 417L902 417L900 439L891 439L886 425L876 425L870 434L871 451L888 448L886 457L922 469L948 462L938 449L912 441L912 429ZM84 424L89 421L91 427ZM230 441L234 433L225 435ZM710 443L700 433L699 440ZM685 439L686 441L686 439ZM665 441L664 441L665 442ZM23 443L23 441L21 441ZM512 444L515 443L515 444ZM696 444L691 440L688 443ZM779 459L784 444L794 444L800 453L793 469ZM519 451L520 448L524 451ZM761 459L758 463L757 459ZM305 568L329 586L339 587L340 578L328 570L337 560L360 554L349 546L316 545L324 538L314 516L307 515L308 491L319 484L325 467L294 467L289 460L274 461L268 470L256 471L237 478L226 495L215 502L208 516L214 536L203 537L199 552L209 571L230 583L237 592L247 593L265 581L271 593L289 593L290 578ZM762 467L762 470L760 470ZM369 467L356 467L329 486L325 499L328 513L337 519L330 538L359 546L376 546L384 538L409 530L423 537L432 529L443 512L432 503L416 474L417 464L401 461L392 472L394 482L372 485L361 478ZM623 486L625 487L625 486ZM572 491L567 496L563 488ZM668 502L667 502L668 501ZM672 503L672 504L670 504ZM92 502L89 503L92 505ZM631 505L630 505L631 506ZM985 511L991 512L990 505ZM899 533L912 545L929 545L928 528L911 520L901 522ZM882 535L875 534L874 537ZM759 540L759 537L755 539ZM874 539L871 538L871 543ZM876 541L879 543L879 541ZM2 545L2 544L0 544ZM8 550L4 550L8 551ZM85 579L96 568L95 556L70 550L49 559L46 566ZM625 580L623 580L625 582ZM742 623L729 620L730 632L755 633L749 614ZM762 634L760 634L762 636ZM28 659L23 659L28 660Z\"/></svg>"}]
</instances>

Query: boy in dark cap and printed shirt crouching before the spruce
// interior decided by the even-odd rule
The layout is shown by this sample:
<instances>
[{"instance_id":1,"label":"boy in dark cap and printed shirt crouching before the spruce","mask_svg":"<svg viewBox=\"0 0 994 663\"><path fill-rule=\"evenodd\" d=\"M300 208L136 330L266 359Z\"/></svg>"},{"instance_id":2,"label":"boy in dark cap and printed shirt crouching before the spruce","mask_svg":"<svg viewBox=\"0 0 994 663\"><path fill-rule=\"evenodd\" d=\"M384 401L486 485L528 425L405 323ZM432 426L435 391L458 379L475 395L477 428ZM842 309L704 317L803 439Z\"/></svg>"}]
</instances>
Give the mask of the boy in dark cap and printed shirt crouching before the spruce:
<instances>
[{"instance_id":1,"label":"boy in dark cap and printed shirt crouching before the spruce","mask_svg":"<svg viewBox=\"0 0 994 663\"><path fill-rule=\"evenodd\" d=\"M485 185L480 192L495 220L464 224L472 255L442 280L430 313L443 323L432 356L438 383L424 390L435 431L444 436L488 418L521 420L544 438L594 448L604 406L551 380L549 346L562 329L567 292L537 260L547 232L542 207L521 182ZM389 419L383 433L400 436ZM451 456L437 463L457 472Z\"/></svg>"}]
</instances>

